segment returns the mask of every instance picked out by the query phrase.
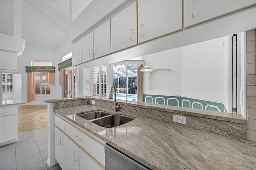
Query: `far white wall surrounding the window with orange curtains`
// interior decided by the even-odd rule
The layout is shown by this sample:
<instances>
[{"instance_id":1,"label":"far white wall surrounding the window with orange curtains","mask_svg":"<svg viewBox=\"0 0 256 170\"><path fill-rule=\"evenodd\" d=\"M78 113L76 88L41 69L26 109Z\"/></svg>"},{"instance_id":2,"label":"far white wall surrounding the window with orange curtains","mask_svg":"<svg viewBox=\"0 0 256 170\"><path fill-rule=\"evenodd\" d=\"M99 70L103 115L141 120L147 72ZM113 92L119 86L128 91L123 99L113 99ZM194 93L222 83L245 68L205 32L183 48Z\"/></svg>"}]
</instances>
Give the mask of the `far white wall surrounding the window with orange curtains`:
<instances>
[{"instance_id":1,"label":"far white wall surrounding the window with orange curtains","mask_svg":"<svg viewBox=\"0 0 256 170\"><path fill-rule=\"evenodd\" d=\"M52 66L58 70L58 63L55 61L55 51L52 49L45 49L26 45L26 48L21 57L18 57L17 73L22 74L22 100L27 101L27 73L25 73L25 66L30 66L31 61L52 61ZM61 57L60 57L61 62ZM58 73L58 71L56 71ZM58 75L54 74L54 85L52 85L52 94L49 96L35 96L35 100L27 103L28 105L45 105L44 99L56 99L58 90Z\"/></svg>"}]
</instances>

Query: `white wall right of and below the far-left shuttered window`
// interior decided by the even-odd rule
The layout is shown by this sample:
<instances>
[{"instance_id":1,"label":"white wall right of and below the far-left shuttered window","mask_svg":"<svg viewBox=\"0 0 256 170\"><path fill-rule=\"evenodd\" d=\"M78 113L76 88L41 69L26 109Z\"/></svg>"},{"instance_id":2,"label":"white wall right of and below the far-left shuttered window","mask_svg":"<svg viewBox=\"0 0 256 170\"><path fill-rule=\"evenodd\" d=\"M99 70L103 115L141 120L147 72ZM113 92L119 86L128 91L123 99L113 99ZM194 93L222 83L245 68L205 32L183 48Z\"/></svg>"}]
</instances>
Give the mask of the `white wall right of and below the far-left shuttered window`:
<instances>
[{"instance_id":1,"label":"white wall right of and below the far-left shuttered window","mask_svg":"<svg viewBox=\"0 0 256 170\"><path fill-rule=\"evenodd\" d=\"M3 100L19 100L20 99L20 74L12 75L12 92L3 94Z\"/></svg>"}]
</instances>

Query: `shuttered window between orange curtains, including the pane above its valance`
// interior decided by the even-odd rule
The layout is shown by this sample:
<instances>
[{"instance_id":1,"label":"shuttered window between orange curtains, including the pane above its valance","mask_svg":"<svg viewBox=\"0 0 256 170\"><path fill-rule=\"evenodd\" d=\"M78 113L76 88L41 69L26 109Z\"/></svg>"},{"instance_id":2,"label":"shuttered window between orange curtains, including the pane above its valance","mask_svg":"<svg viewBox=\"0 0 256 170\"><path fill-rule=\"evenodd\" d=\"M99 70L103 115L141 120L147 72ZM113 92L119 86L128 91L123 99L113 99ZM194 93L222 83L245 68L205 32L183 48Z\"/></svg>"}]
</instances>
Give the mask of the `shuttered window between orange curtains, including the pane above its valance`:
<instances>
[{"instance_id":1,"label":"shuttered window between orange curtains, including the pane above its valance","mask_svg":"<svg viewBox=\"0 0 256 170\"><path fill-rule=\"evenodd\" d=\"M52 61L32 61L32 66L52 66ZM35 95L51 94L51 85L46 79L47 73L34 73Z\"/></svg>"}]
</instances>

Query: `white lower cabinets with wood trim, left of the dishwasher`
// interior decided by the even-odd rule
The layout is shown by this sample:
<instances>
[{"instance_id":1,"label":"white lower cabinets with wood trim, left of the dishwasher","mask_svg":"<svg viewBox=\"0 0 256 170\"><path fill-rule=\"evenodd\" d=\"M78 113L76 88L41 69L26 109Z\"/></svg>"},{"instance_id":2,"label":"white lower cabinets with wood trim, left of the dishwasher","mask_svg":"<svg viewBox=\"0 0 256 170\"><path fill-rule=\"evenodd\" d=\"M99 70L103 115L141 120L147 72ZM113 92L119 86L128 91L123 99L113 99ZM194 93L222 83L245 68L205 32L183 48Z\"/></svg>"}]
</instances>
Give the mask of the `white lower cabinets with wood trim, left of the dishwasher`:
<instances>
[{"instance_id":1,"label":"white lower cabinets with wood trim, left of the dishwasher","mask_svg":"<svg viewBox=\"0 0 256 170\"><path fill-rule=\"evenodd\" d=\"M55 126L55 159L62 170L105 170L105 143L72 123L64 121L64 132Z\"/></svg>"}]
</instances>

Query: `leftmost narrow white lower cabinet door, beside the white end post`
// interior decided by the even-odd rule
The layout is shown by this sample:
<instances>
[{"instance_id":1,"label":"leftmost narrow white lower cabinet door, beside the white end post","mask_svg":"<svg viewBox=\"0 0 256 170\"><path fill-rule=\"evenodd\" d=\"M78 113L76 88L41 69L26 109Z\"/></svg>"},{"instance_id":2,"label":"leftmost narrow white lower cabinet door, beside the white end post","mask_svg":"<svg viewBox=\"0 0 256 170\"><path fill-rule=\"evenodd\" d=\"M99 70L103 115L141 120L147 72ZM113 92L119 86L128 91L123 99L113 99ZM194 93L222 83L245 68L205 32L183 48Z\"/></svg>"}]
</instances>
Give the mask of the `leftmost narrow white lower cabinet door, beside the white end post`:
<instances>
[{"instance_id":1,"label":"leftmost narrow white lower cabinet door, beside the white end post","mask_svg":"<svg viewBox=\"0 0 256 170\"><path fill-rule=\"evenodd\" d=\"M55 127L55 159L64 170L64 133Z\"/></svg>"}]
</instances>

